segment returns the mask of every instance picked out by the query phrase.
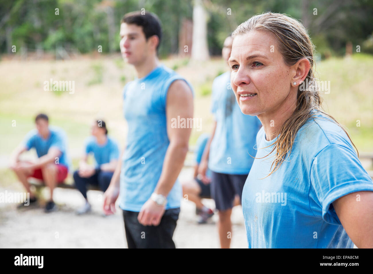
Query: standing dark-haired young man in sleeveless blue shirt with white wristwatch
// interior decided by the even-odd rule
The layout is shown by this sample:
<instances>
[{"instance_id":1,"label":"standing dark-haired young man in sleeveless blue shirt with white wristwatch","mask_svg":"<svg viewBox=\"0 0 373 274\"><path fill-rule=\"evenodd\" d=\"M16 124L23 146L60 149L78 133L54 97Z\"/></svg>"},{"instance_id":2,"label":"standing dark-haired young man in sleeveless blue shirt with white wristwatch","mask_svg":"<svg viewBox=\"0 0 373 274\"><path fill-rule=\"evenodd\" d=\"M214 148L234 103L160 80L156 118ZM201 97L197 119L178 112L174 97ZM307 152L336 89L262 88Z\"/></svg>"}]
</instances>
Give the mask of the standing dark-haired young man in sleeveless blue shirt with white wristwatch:
<instances>
[{"instance_id":1,"label":"standing dark-haired young man in sleeveless blue shirt with white wristwatch","mask_svg":"<svg viewBox=\"0 0 373 274\"><path fill-rule=\"evenodd\" d=\"M104 211L115 212L120 189L129 248L175 248L172 236L182 198L177 178L191 129L175 128L171 120L192 118L193 94L185 79L159 63L161 38L153 13L132 12L121 21L120 51L137 78L123 89L127 145L105 192Z\"/></svg>"}]
</instances>

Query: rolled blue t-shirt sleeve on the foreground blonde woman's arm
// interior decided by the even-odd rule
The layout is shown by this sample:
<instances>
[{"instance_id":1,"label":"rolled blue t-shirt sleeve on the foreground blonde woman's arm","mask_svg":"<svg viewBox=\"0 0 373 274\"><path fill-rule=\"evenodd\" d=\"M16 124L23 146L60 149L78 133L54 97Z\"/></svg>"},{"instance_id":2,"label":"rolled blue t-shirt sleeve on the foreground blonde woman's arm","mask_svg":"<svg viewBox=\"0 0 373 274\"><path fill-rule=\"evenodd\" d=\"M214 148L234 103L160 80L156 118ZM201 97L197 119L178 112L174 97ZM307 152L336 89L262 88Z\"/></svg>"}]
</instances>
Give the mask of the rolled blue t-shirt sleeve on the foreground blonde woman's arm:
<instances>
[{"instance_id":1,"label":"rolled blue t-shirt sleeve on the foreground blonde woman's arm","mask_svg":"<svg viewBox=\"0 0 373 274\"><path fill-rule=\"evenodd\" d=\"M358 191L373 191L373 182L352 148L330 144L314 157L311 185L322 207L322 217L330 224L341 225L332 203Z\"/></svg>"}]
</instances>

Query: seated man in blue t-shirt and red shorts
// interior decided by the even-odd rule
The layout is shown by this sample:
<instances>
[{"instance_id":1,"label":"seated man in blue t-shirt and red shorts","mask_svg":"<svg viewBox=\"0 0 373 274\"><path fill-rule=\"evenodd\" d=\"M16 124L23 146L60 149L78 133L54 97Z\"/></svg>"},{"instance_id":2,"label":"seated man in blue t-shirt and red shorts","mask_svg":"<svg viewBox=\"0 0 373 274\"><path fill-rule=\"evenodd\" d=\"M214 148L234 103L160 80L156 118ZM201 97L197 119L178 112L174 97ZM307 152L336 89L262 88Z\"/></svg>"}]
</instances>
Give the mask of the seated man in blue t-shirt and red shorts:
<instances>
[{"instance_id":1,"label":"seated man in blue t-shirt and red shorts","mask_svg":"<svg viewBox=\"0 0 373 274\"><path fill-rule=\"evenodd\" d=\"M30 193L30 205L37 204L37 199L30 189L29 177L40 179L49 187L50 199L45 206L45 212L51 212L57 210L53 202L53 190L57 183L63 183L68 176L70 162L67 156L67 138L62 129L49 126L46 114L38 114L35 117L35 125L36 129L31 130L13 151L9 165ZM31 148L35 148L38 159L32 162L21 161L21 154Z\"/></svg>"}]
</instances>

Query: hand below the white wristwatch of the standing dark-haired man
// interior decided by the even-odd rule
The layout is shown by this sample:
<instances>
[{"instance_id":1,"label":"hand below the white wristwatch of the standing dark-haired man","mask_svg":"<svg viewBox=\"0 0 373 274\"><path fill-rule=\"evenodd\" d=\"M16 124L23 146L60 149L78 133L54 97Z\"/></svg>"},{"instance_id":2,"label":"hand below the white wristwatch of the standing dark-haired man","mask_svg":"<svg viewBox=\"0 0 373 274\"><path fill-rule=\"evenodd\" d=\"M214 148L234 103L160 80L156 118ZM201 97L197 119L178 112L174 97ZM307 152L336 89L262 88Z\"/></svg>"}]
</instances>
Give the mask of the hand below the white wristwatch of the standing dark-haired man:
<instances>
[{"instance_id":1,"label":"hand below the white wristwatch of the standing dark-haired man","mask_svg":"<svg viewBox=\"0 0 373 274\"><path fill-rule=\"evenodd\" d=\"M158 226L164 214L164 205L158 205L152 199L148 199L142 206L137 220L143 226Z\"/></svg>"}]
</instances>

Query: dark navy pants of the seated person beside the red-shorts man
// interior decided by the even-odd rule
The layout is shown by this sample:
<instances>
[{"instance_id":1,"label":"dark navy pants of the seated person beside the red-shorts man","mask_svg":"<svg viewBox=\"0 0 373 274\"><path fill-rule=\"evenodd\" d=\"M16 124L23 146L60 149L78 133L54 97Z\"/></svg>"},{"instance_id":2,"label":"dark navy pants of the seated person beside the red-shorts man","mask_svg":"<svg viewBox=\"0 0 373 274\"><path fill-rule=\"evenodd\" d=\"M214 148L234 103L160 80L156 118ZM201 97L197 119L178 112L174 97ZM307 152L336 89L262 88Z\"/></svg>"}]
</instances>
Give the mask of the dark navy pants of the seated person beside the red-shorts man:
<instances>
[{"instance_id":1,"label":"dark navy pants of the seated person beside the red-shorts man","mask_svg":"<svg viewBox=\"0 0 373 274\"><path fill-rule=\"evenodd\" d=\"M87 199L87 184L98 185L100 189L105 192L110 185L110 180L113 177L113 172L111 171L98 171L93 176L88 178L82 178L78 174L78 170L74 172L75 186L82 193L85 199Z\"/></svg>"}]
</instances>

